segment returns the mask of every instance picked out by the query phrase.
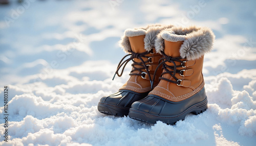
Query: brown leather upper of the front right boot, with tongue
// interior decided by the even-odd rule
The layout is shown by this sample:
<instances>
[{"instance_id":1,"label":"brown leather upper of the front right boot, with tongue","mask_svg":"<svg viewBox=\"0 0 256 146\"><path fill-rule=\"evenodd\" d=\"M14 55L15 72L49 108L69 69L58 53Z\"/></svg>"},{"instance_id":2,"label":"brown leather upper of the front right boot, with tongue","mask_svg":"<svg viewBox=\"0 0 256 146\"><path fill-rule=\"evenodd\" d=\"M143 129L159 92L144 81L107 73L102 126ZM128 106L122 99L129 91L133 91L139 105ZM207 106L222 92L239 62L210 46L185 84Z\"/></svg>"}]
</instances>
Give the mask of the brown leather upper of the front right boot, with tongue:
<instances>
[{"instance_id":1,"label":"brown leather upper of the front right boot, with tongue","mask_svg":"<svg viewBox=\"0 0 256 146\"><path fill-rule=\"evenodd\" d=\"M169 57L180 57L180 46L183 41L170 42L164 40L164 54ZM160 83L150 92L150 94L155 94L161 96L164 99L173 102L183 101L190 96L196 94L204 87L202 68L203 68L203 56L196 60L181 59L181 62L175 61L177 66L182 65L182 67L177 67L179 72L176 72L175 77L178 79L177 84L168 82L166 80L161 80ZM165 63L168 66L174 66L172 62ZM169 71L173 71L168 69ZM166 72L166 70L163 70ZM163 74L162 78L177 81L170 74Z\"/></svg>"}]
</instances>

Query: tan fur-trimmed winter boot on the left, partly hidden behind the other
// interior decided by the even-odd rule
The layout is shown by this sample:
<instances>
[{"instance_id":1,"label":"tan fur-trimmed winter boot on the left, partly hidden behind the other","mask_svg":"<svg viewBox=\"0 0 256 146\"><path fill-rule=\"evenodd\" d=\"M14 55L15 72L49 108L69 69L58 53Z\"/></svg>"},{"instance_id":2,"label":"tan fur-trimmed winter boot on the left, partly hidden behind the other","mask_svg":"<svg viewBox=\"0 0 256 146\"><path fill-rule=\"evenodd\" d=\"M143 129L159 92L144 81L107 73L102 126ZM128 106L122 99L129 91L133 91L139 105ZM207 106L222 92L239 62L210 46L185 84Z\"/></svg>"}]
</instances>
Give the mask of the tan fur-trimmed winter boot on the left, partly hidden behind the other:
<instances>
[{"instance_id":1,"label":"tan fur-trimmed winter boot on the left, partly hidden behind the other","mask_svg":"<svg viewBox=\"0 0 256 146\"><path fill-rule=\"evenodd\" d=\"M145 98L148 92L158 84L158 79L153 83L153 75L162 55L156 53L155 39L162 29L170 27L172 26L151 25L141 29L125 30L120 45L129 54L120 61L115 75L122 76L125 65L132 60L131 77L118 92L100 99L99 112L127 116L132 103ZM127 56L131 57L124 60ZM118 73L119 69L121 74ZM161 73L161 69L156 71L156 77L160 77Z\"/></svg>"}]
</instances>

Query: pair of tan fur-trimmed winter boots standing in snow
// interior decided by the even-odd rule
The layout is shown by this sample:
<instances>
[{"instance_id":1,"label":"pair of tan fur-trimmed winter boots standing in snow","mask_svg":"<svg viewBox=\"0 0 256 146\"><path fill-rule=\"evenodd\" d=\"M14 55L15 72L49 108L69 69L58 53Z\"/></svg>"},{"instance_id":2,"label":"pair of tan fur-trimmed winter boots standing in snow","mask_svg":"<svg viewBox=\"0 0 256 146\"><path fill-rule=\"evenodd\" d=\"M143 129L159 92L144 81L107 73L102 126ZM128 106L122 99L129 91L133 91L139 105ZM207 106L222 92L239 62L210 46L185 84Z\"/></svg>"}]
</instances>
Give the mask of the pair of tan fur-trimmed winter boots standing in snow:
<instances>
[{"instance_id":1,"label":"pair of tan fur-trimmed winter boots standing in snow","mask_svg":"<svg viewBox=\"0 0 256 146\"><path fill-rule=\"evenodd\" d=\"M126 29L120 45L129 54L120 61L115 75L120 77L132 60L131 77L118 92L100 99L99 112L173 125L189 113L205 111L202 68L214 39L205 27Z\"/></svg>"}]
</instances>

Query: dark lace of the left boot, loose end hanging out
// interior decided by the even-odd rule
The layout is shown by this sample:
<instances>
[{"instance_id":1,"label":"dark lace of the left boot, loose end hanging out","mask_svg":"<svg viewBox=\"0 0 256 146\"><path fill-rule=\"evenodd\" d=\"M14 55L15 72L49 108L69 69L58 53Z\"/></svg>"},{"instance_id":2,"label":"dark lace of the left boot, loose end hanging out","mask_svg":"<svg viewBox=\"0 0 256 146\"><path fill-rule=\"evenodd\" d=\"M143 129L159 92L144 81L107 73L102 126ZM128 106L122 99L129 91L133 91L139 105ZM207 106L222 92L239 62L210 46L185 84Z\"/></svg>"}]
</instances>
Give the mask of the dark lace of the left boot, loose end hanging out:
<instances>
[{"instance_id":1,"label":"dark lace of the left boot, loose end hanging out","mask_svg":"<svg viewBox=\"0 0 256 146\"><path fill-rule=\"evenodd\" d=\"M133 66L133 70L131 71L131 74L129 74L130 76L133 76L133 75L136 75L136 76L141 76L143 79L145 79L144 77L145 77L145 75L147 74L148 75L148 77L149 77L149 79L150 79L150 82L151 82L151 86L153 86L152 85L152 83L153 83L153 81L152 81L152 79L151 79L151 76L150 76L150 72L149 72L149 70L148 70L148 67L147 67L147 65L146 65L146 63L152 63L152 57L148 57L148 56L146 56L147 54L150 54L150 53L153 53L153 50L151 50L151 51L146 51L146 52L143 52L143 53L134 53L134 52L132 52L132 51L128 51L130 54L128 54L128 55L125 55L122 59L121 59L121 61L119 62L119 64L118 64L118 66L117 66L117 69L116 69L116 72L115 72L115 75L114 75L114 77L113 77L113 79L112 80L114 80L114 78L115 78L115 76L117 75L118 77L121 77L122 76L122 74L123 74L123 70L124 70L124 67L126 66L126 64L129 62L129 61L133 61L133 64L132 64L132 66ZM130 58L128 58L128 59L126 59L126 60L124 60L126 57L128 57L128 56L130 56ZM140 61L141 62L136 62L136 61L134 61L133 59L134 58L137 58L137 59L140 59ZM147 61L144 61L143 60L143 58L148 58L148 60ZM124 61L123 61L124 60ZM136 66L140 66L140 67L135 67L135 65ZM122 67L123 66L123 67ZM121 73L119 74L119 70L120 70L120 68L122 67L122 70L121 70ZM142 71L142 69L145 69L146 70L146 72L144 72L144 71ZM135 73L133 73L134 71L136 71L136 70L139 70L139 72L140 72L140 74L135 74Z\"/></svg>"}]
</instances>

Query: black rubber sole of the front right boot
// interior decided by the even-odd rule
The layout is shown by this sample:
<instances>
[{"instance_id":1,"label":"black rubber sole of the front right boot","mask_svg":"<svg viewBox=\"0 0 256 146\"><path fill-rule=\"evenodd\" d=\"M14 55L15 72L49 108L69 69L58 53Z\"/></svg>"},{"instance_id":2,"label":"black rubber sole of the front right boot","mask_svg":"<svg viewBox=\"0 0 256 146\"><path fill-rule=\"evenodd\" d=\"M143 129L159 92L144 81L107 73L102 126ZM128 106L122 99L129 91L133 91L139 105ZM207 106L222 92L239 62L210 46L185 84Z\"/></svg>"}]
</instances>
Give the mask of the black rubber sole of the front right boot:
<instances>
[{"instance_id":1,"label":"black rubber sole of the front right boot","mask_svg":"<svg viewBox=\"0 0 256 146\"><path fill-rule=\"evenodd\" d=\"M193 113L193 114L200 114L202 112L204 112L207 109L207 98L205 98L204 101L197 103L193 106L190 106L189 108L187 108L185 111L183 111L182 113L178 114L178 115L174 115L174 116L160 116L160 115L154 115L148 112L144 112L144 111L140 111L140 110L136 110L136 109L130 109L129 111L129 117L136 119L136 120L140 120L140 121L144 121L146 123L150 123L150 124L156 124L156 122L158 120L162 121L163 123L169 124L169 125L174 125L177 121L179 120L184 120L185 116L189 113Z\"/></svg>"}]
</instances>

